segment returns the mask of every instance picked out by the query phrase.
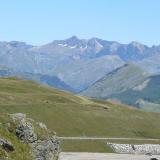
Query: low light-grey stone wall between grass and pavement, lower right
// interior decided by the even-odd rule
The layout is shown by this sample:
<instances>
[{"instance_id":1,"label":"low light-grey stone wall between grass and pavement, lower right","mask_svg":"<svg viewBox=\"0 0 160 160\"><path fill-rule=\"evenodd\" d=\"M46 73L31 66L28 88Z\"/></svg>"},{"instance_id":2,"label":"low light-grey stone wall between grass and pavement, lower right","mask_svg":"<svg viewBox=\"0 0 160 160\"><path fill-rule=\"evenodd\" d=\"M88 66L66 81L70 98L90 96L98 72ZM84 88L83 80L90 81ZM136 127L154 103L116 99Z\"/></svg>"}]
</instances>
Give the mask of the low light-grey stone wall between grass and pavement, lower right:
<instances>
[{"instance_id":1,"label":"low light-grey stone wall between grass and pavement, lower right","mask_svg":"<svg viewBox=\"0 0 160 160\"><path fill-rule=\"evenodd\" d=\"M109 147L113 149L116 153L124 154L160 154L160 145L159 144L142 144L142 145L133 145L133 144L116 144L116 143L107 143Z\"/></svg>"}]
</instances>

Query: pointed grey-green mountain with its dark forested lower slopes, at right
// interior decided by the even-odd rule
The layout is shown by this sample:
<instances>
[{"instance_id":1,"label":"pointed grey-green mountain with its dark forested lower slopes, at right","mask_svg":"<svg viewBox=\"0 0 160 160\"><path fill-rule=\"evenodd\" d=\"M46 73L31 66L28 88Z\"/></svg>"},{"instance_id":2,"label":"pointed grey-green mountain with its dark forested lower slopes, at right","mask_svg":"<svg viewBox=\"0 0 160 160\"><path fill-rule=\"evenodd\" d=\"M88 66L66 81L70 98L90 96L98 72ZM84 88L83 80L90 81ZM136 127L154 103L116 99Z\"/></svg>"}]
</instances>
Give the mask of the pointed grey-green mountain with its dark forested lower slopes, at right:
<instances>
[{"instance_id":1,"label":"pointed grey-green mountain with its dark forested lower slopes, at right","mask_svg":"<svg viewBox=\"0 0 160 160\"><path fill-rule=\"evenodd\" d=\"M160 111L160 76L151 76L135 64L127 64L107 74L82 95L113 99L148 111Z\"/></svg>"}]
</instances>

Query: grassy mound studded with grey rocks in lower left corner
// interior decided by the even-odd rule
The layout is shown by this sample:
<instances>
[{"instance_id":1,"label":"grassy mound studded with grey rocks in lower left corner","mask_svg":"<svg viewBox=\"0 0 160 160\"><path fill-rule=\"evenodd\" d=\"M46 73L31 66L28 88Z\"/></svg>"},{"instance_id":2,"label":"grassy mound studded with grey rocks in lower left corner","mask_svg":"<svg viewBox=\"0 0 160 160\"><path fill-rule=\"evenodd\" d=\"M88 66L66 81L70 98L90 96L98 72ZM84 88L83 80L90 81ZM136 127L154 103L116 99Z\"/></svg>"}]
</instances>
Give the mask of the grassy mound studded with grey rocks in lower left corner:
<instances>
[{"instance_id":1,"label":"grassy mound studded with grey rocks in lower left corner","mask_svg":"<svg viewBox=\"0 0 160 160\"><path fill-rule=\"evenodd\" d=\"M59 140L45 124L25 114L0 114L1 160L58 160Z\"/></svg>"}]
</instances>

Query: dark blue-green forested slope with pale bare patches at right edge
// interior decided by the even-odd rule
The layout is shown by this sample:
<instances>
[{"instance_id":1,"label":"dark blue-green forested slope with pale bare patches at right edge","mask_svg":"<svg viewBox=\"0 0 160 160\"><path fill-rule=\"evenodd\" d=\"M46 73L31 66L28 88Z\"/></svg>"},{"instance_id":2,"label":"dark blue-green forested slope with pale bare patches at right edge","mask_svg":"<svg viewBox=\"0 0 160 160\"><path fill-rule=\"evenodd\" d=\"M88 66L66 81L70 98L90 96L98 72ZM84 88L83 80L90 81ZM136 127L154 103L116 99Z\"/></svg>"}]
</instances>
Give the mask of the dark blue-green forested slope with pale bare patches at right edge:
<instances>
[{"instance_id":1,"label":"dark blue-green forested slope with pale bare patches at right edge","mask_svg":"<svg viewBox=\"0 0 160 160\"><path fill-rule=\"evenodd\" d=\"M136 87L112 96L139 108L160 111L160 75L149 76Z\"/></svg>"}]
</instances>

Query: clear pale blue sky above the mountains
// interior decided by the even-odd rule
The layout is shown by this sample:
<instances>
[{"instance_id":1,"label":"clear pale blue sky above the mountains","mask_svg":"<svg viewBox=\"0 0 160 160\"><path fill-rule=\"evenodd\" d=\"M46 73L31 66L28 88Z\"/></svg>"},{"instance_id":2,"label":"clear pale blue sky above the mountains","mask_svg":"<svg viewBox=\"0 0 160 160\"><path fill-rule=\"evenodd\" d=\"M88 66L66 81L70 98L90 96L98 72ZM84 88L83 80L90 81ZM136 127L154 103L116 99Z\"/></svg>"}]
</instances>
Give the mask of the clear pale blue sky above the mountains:
<instances>
[{"instance_id":1,"label":"clear pale blue sky above the mountains","mask_svg":"<svg viewBox=\"0 0 160 160\"><path fill-rule=\"evenodd\" d=\"M160 0L0 0L0 41L72 35L160 44Z\"/></svg>"}]
</instances>

